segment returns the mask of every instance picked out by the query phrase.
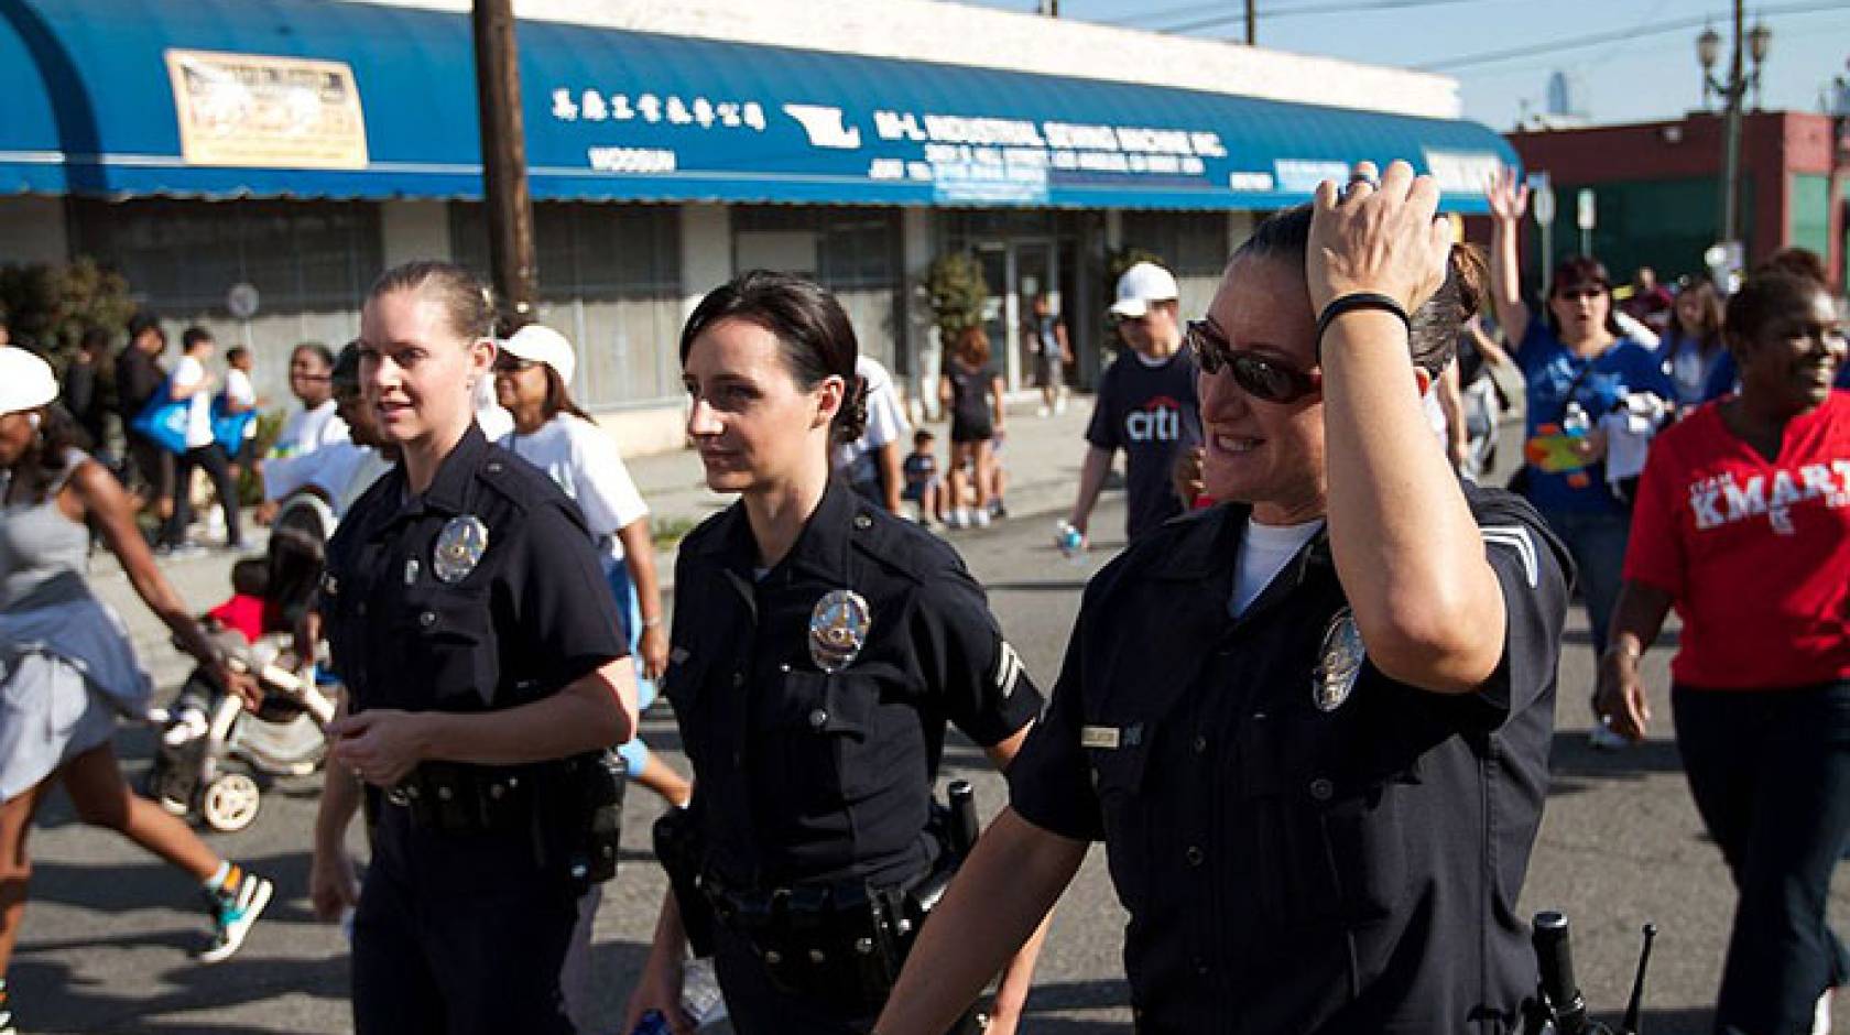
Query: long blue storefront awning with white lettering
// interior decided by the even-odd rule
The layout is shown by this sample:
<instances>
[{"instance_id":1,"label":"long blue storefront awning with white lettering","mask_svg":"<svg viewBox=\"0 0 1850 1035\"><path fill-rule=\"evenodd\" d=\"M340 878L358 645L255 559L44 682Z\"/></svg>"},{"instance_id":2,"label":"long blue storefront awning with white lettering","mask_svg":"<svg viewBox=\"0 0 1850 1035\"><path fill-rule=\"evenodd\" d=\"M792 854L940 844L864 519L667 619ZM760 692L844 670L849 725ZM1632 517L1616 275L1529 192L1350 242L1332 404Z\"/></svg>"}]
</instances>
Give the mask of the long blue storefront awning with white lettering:
<instances>
[{"instance_id":1,"label":"long blue storefront awning with white lettering","mask_svg":"<svg viewBox=\"0 0 1850 1035\"><path fill-rule=\"evenodd\" d=\"M520 22L535 198L1271 209L1360 159L1484 211L1474 122ZM479 198L464 15L0 0L0 192Z\"/></svg>"}]
</instances>

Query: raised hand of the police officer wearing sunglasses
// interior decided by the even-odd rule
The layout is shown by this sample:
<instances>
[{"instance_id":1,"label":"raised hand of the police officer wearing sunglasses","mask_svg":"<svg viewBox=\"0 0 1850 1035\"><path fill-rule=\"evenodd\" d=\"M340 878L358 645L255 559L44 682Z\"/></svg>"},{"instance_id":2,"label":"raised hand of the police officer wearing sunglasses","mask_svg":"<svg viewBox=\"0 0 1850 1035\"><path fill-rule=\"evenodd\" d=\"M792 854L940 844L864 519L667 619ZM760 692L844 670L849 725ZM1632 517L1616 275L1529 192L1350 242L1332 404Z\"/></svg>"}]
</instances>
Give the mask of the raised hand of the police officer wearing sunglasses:
<instances>
[{"instance_id":1,"label":"raised hand of the police officer wearing sunglasses","mask_svg":"<svg viewBox=\"0 0 1850 1035\"><path fill-rule=\"evenodd\" d=\"M1347 189L1317 187L1304 277L1317 312L1338 298L1375 292L1413 312L1445 283L1452 227L1436 218L1439 185L1391 163L1375 181L1375 164L1356 164Z\"/></svg>"}]
</instances>

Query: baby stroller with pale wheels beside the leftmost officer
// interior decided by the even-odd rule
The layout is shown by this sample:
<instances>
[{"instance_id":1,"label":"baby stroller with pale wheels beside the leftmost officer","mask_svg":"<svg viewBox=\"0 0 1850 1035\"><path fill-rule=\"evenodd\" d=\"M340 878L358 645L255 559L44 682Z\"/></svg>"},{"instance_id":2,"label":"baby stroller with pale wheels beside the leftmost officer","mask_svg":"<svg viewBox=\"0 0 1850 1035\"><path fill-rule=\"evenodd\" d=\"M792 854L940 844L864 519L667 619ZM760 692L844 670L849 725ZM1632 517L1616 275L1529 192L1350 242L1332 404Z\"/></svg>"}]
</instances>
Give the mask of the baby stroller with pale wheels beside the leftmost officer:
<instances>
[{"instance_id":1,"label":"baby stroller with pale wheels beside the leftmost officer","mask_svg":"<svg viewBox=\"0 0 1850 1035\"><path fill-rule=\"evenodd\" d=\"M313 599L326 564L333 510L313 493L283 503L265 553L265 636L216 634L233 669L257 676L257 712L194 669L165 713L154 713L159 750L148 797L174 815L231 834L257 819L263 787L276 776L309 776L327 754L324 726L333 719L331 688L316 686L311 664L294 656L292 630Z\"/></svg>"}]
</instances>

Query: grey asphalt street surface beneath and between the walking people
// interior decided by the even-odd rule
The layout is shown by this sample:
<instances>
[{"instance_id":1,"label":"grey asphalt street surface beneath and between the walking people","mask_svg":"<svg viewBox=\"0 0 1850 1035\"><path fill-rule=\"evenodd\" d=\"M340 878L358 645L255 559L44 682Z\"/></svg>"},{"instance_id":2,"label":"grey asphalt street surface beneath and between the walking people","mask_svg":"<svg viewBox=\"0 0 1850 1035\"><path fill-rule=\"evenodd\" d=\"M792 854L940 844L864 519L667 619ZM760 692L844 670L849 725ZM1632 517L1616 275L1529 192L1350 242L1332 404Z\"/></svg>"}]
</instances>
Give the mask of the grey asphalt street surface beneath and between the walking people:
<instances>
[{"instance_id":1,"label":"grey asphalt street surface beneath and between the walking people","mask_svg":"<svg viewBox=\"0 0 1850 1035\"><path fill-rule=\"evenodd\" d=\"M1121 506L1106 503L1095 529L1121 529ZM1103 534L1095 551L1073 564L1053 549L1051 532L1051 516L1018 518L956 540L1043 686L1056 675L1084 578L1121 545ZM222 597L222 571L176 566L174 577L187 599L215 601ZM124 612L139 608L118 575L100 575L98 584ZM142 647L163 686L176 686L183 669L174 652ZM1669 739L1665 652L1652 654L1646 665L1661 726L1641 747L1591 750L1585 697L1593 656L1576 610L1561 660L1554 791L1523 909L1565 909L1572 917L1582 985L1595 1009L1611 1015L1630 987L1641 924L1658 924L1646 1029L1695 1035L1708 1029L1733 895L1720 856L1700 832ZM684 767L666 708L651 712L644 730L657 750ZM141 773L150 734L124 730L117 743L131 774ZM945 778L953 776L975 780L986 813L1003 800L999 778L968 741L947 750ZM278 898L246 948L216 967L194 965L187 956L205 935L196 887L126 841L78 824L68 802L56 797L31 837L31 904L9 974L24 1031L348 1031L346 943L337 926L313 919L305 895L316 785L283 782L265 795L250 830L213 835L222 852L278 882ZM657 811L646 795L631 797L623 869L607 885L598 915L599 1033L618 1028L662 895L664 882L646 850ZM1833 913L1843 915L1846 904L1850 885L1839 880ZM1128 1031L1121 926L1103 852L1093 850L1060 904L1027 1031ZM509 946L511 956L518 952ZM1839 1009L1839 1024L1846 1020L1850 1013Z\"/></svg>"}]
</instances>

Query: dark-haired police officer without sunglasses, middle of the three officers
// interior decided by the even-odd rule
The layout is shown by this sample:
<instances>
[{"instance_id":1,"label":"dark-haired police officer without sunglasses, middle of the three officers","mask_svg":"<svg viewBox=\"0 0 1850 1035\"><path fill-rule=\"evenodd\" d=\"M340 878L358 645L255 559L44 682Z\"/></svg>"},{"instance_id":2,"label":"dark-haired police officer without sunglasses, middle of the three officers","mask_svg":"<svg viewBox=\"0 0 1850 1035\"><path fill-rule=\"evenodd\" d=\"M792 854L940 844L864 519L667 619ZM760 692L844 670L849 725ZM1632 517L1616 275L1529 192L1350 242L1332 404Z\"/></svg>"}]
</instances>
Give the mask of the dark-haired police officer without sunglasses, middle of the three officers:
<instances>
[{"instance_id":1,"label":"dark-haired police officer without sunglasses, middle of the three officers","mask_svg":"<svg viewBox=\"0 0 1850 1035\"><path fill-rule=\"evenodd\" d=\"M932 808L945 723L1006 765L1040 715L956 553L831 479L829 447L860 434L855 357L834 298L781 274L712 290L681 333L688 434L707 484L742 499L675 564L664 691L694 800L631 1028L690 1028L686 935L710 926L738 1031L866 1031L955 856Z\"/></svg>"}]
</instances>

